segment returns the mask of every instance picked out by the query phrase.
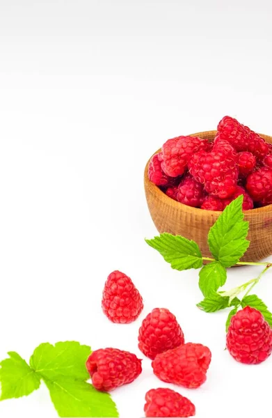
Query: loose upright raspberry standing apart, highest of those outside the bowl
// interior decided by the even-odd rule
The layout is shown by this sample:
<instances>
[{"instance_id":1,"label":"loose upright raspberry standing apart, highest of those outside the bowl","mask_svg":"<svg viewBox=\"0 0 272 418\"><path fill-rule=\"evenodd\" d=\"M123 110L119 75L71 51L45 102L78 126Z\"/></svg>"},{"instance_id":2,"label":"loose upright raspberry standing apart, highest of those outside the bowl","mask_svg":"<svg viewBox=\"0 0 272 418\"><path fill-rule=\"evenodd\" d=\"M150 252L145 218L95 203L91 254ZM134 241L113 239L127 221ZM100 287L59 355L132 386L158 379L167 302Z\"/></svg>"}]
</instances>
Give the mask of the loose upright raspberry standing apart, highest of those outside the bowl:
<instances>
[{"instance_id":1,"label":"loose upright raspberry standing apart, highest of those outside the bowl","mask_svg":"<svg viewBox=\"0 0 272 418\"><path fill-rule=\"evenodd\" d=\"M131 279L115 270L106 279L102 309L113 323L129 324L141 314L143 298Z\"/></svg>"}]
</instances>

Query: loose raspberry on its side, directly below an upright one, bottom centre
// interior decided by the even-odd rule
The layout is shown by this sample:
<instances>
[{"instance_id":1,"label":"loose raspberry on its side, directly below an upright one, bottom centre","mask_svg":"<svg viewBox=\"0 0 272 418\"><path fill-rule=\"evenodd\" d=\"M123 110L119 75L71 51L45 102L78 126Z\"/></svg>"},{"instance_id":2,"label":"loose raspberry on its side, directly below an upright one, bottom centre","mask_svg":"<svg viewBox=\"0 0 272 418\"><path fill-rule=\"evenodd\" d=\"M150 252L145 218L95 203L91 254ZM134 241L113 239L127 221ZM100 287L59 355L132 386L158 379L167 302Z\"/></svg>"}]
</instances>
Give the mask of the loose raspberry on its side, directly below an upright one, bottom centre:
<instances>
[{"instance_id":1,"label":"loose raspberry on its side, directly below an upright one, bottom centre","mask_svg":"<svg viewBox=\"0 0 272 418\"><path fill-rule=\"evenodd\" d=\"M158 354L152 367L154 374L163 382L195 388L205 382L210 362L209 348L202 344L186 343Z\"/></svg>"}]
</instances>

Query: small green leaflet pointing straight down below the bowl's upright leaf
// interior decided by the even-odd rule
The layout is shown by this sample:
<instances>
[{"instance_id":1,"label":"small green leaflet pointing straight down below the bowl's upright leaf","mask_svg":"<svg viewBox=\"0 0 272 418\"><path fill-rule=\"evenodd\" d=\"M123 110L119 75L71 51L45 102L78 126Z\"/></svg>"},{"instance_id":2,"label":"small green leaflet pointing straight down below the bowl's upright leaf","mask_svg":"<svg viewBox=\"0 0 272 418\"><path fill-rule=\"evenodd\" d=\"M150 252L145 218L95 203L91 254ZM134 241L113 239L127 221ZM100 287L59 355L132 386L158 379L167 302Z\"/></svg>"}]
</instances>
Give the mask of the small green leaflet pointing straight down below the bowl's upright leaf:
<instances>
[{"instance_id":1,"label":"small green leaflet pointing straight down below the bowl's upright leaf","mask_svg":"<svg viewBox=\"0 0 272 418\"><path fill-rule=\"evenodd\" d=\"M218 261L206 264L199 272L199 287L204 296L218 291L225 284L227 270Z\"/></svg>"}]
</instances>

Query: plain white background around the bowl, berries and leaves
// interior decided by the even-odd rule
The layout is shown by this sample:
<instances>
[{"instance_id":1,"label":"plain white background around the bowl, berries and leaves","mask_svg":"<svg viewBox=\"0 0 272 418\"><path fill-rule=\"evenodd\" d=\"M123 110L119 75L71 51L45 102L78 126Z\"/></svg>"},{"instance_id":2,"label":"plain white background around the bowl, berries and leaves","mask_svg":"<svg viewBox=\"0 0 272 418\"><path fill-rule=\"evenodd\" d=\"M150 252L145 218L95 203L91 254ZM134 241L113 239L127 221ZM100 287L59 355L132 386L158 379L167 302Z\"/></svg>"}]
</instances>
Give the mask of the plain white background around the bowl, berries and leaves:
<instances>
[{"instance_id":1,"label":"plain white background around the bowl, berries and leaves","mask_svg":"<svg viewBox=\"0 0 272 418\"><path fill-rule=\"evenodd\" d=\"M215 129L225 114L272 134L271 12L268 0L0 1L1 359L72 339L141 357L141 320L167 307L186 341L213 354L205 385L175 387L197 417L269 415L272 358L235 362L224 351L227 312L195 307L198 271L171 270L145 244L157 231L143 170L163 141ZM100 308L115 269L145 301L131 325ZM227 287L259 271L231 270ZM272 308L271 279L256 291ZM167 386L148 359L143 368L113 392L121 417L143 417L145 392ZM0 415L56 412L42 387L3 401Z\"/></svg>"}]
</instances>

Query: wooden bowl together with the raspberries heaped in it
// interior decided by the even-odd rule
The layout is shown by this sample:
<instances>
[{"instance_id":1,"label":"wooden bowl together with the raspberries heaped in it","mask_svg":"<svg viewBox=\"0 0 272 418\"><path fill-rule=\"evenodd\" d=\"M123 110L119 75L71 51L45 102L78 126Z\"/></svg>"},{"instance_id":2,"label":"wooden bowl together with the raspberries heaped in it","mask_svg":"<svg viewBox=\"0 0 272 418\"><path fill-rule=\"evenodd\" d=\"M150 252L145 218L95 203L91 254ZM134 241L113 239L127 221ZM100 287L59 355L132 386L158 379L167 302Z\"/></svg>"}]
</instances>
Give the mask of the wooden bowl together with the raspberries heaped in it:
<instances>
[{"instance_id":1,"label":"wooden bowl together with the raspberries heaped in it","mask_svg":"<svg viewBox=\"0 0 272 418\"><path fill-rule=\"evenodd\" d=\"M272 254L272 137L230 116L216 131L168 139L145 167L145 196L160 233L198 242L210 256L207 235L226 206L243 195L250 247L243 261Z\"/></svg>"}]
</instances>

